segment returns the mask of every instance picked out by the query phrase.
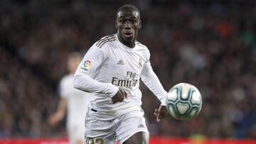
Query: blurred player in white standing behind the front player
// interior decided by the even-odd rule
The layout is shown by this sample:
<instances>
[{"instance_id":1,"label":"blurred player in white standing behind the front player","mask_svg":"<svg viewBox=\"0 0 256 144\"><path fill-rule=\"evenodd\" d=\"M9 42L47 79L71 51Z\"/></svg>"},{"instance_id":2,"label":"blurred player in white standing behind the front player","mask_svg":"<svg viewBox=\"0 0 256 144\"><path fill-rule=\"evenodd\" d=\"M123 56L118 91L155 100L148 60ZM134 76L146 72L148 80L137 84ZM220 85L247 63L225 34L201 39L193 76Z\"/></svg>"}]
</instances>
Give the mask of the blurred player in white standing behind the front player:
<instances>
[{"instance_id":1,"label":"blurred player in white standing behind the front player","mask_svg":"<svg viewBox=\"0 0 256 144\"><path fill-rule=\"evenodd\" d=\"M79 52L73 52L68 56L69 74L60 81L60 101L57 111L50 116L48 122L54 126L61 121L67 113L67 131L70 144L82 144L85 139L85 113L89 97L73 87L75 70L80 64L82 57Z\"/></svg>"}]
</instances>

